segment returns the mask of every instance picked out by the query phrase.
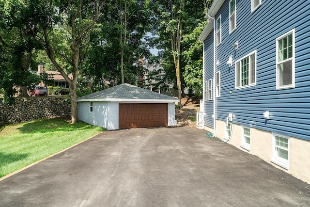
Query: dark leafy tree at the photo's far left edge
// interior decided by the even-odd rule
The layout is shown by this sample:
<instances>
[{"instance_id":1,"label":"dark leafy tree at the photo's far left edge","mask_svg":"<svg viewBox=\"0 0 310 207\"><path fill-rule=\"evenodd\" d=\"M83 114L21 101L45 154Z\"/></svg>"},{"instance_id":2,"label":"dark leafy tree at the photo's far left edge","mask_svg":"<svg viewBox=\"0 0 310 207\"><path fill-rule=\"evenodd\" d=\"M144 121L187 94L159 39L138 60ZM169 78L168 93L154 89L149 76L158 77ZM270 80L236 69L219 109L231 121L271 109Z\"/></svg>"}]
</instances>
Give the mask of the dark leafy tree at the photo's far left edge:
<instances>
[{"instance_id":1,"label":"dark leafy tree at the photo's far left edge","mask_svg":"<svg viewBox=\"0 0 310 207\"><path fill-rule=\"evenodd\" d=\"M37 0L0 0L0 87L5 90L5 101L12 102L16 93L13 86L20 87L20 95L27 95L27 86L38 82L31 73L32 51L40 48L37 41L40 11Z\"/></svg>"}]
</instances>

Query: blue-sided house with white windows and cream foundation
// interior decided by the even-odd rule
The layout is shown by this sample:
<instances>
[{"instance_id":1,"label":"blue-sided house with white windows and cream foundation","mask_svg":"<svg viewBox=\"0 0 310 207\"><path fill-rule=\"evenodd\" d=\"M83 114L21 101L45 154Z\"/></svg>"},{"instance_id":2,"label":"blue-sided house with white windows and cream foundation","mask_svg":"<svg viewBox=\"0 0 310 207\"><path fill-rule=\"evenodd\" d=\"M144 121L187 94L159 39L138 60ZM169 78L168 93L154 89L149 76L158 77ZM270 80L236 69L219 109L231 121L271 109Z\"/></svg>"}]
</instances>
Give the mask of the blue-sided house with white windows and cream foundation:
<instances>
[{"instance_id":1,"label":"blue-sided house with white windows and cream foundation","mask_svg":"<svg viewBox=\"0 0 310 207\"><path fill-rule=\"evenodd\" d=\"M310 183L310 1L215 0L203 127Z\"/></svg>"}]
</instances>

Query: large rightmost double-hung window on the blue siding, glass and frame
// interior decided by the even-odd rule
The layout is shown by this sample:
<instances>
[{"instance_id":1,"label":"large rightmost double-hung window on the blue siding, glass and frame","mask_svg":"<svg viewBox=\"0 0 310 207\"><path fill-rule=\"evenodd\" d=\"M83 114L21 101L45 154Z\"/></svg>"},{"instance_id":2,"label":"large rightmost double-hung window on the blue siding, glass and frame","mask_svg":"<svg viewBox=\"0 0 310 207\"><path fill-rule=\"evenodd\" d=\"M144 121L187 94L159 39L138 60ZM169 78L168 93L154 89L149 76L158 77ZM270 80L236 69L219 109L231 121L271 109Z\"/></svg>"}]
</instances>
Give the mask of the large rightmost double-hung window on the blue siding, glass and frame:
<instances>
[{"instance_id":1,"label":"large rightmost double-hung window on the blue siding, glass and frame","mask_svg":"<svg viewBox=\"0 0 310 207\"><path fill-rule=\"evenodd\" d=\"M295 30L277 38L277 89L295 87Z\"/></svg>"}]
</instances>

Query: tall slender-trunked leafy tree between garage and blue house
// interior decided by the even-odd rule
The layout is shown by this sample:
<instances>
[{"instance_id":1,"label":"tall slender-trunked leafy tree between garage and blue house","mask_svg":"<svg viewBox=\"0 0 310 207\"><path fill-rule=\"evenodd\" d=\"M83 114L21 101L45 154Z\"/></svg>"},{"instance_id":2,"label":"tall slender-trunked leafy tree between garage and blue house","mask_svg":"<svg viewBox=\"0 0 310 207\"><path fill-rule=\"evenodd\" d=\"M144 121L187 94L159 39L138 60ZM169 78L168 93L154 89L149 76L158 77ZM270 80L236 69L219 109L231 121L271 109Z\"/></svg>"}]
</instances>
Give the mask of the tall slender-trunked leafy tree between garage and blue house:
<instances>
[{"instance_id":1,"label":"tall slender-trunked leafy tree between garage and blue house","mask_svg":"<svg viewBox=\"0 0 310 207\"><path fill-rule=\"evenodd\" d=\"M195 85L191 81L191 73L198 67L201 67L200 70L202 71L202 65L199 64L199 58L197 59L196 55L198 49L194 46L197 39L194 40L193 37L197 36L198 33L195 32L195 28L201 27L200 24L203 25L207 8L211 4L212 0L152 1L157 19L154 25L154 33L157 32L158 34L158 38L155 39L155 46L163 50L160 55L164 62L162 65L165 72L172 74L174 71L180 106L182 94L184 94L182 91L186 83L189 86ZM198 54L200 53L201 51L198 52ZM173 63L173 70L171 63ZM196 65L191 65L193 63ZM199 73L194 76L199 76Z\"/></svg>"}]
</instances>

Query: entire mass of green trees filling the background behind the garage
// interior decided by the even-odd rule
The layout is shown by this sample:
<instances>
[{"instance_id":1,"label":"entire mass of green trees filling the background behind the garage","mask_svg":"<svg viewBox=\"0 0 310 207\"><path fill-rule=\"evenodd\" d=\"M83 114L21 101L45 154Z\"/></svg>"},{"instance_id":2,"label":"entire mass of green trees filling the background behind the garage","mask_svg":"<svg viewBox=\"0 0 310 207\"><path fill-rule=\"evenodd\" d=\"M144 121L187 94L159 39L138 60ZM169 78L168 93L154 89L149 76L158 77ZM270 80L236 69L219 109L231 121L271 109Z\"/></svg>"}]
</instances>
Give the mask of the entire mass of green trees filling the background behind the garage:
<instances>
[{"instance_id":1,"label":"entire mass of green trees filling the background behind the garage","mask_svg":"<svg viewBox=\"0 0 310 207\"><path fill-rule=\"evenodd\" d=\"M137 83L145 61L157 58L179 99L185 87L202 90L202 44L197 38L212 0L0 0L0 88L45 80L38 64L59 71L70 86L71 121L78 120L79 80L92 90ZM150 48L160 50L154 57ZM153 63L153 62L152 62ZM73 78L69 78L69 74Z\"/></svg>"}]
</instances>

